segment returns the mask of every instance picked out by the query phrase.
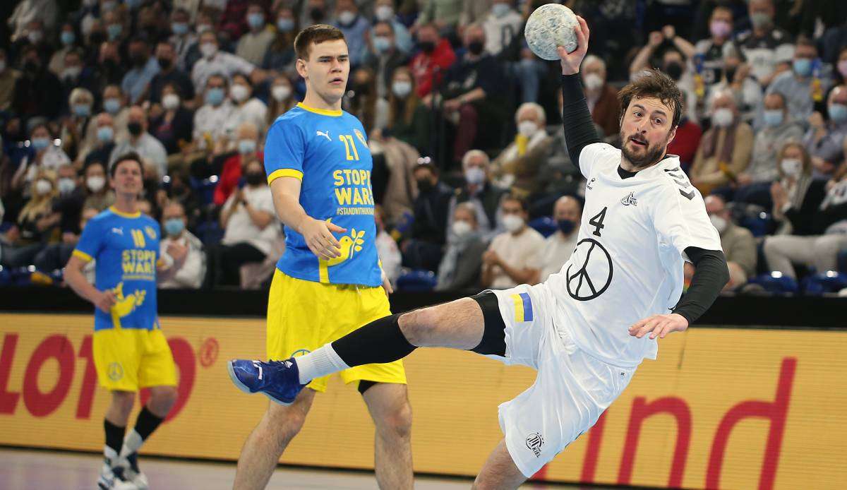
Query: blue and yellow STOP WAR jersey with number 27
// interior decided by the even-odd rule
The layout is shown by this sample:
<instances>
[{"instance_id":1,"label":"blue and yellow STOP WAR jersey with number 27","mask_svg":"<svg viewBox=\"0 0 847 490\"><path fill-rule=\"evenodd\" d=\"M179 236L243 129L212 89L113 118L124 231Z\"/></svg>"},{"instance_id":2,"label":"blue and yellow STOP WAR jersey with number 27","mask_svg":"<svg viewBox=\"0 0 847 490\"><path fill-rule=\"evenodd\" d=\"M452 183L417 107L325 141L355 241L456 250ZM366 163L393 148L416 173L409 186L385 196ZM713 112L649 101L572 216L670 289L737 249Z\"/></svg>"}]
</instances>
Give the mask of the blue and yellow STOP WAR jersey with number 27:
<instances>
[{"instance_id":1,"label":"blue and yellow STOP WAR jersey with number 27","mask_svg":"<svg viewBox=\"0 0 847 490\"><path fill-rule=\"evenodd\" d=\"M318 259L302 235L285 226L285 253L276 266L288 276L333 284L382 284L376 252L373 167L361 122L341 110L302 103L282 114L268 131L268 184L283 176L302 180L300 204L316 220L346 228L335 234L341 256Z\"/></svg>"}]
</instances>

